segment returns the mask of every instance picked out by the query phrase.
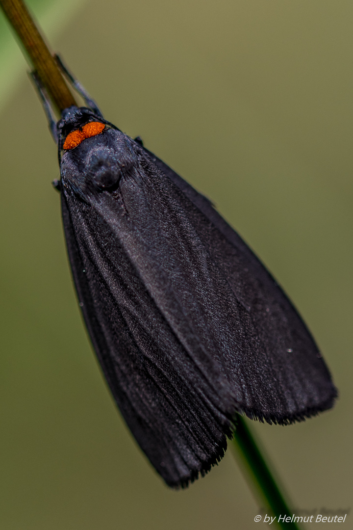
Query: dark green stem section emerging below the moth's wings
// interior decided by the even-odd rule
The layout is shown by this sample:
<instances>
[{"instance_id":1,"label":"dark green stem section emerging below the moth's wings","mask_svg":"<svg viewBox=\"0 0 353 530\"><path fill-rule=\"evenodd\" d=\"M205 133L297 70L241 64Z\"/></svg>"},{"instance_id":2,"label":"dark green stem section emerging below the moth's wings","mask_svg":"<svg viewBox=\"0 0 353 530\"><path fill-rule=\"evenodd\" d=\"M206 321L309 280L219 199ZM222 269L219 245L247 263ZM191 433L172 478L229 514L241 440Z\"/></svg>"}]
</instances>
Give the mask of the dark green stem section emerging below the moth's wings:
<instances>
[{"instance_id":1,"label":"dark green stem section emerging below the moth's wings","mask_svg":"<svg viewBox=\"0 0 353 530\"><path fill-rule=\"evenodd\" d=\"M237 416L236 419L233 446L239 457L243 474L255 497L260 497L265 502L268 511L276 517L276 523L280 528L299 530L294 522L286 523L278 520L279 516L292 518L293 510L287 506L256 441L241 416Z\"/></svg>"}]
</instances>

